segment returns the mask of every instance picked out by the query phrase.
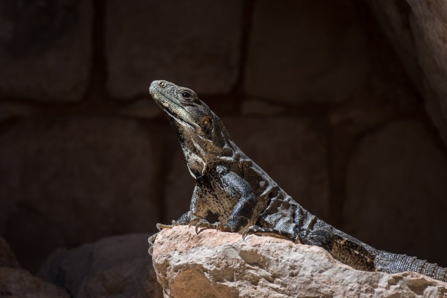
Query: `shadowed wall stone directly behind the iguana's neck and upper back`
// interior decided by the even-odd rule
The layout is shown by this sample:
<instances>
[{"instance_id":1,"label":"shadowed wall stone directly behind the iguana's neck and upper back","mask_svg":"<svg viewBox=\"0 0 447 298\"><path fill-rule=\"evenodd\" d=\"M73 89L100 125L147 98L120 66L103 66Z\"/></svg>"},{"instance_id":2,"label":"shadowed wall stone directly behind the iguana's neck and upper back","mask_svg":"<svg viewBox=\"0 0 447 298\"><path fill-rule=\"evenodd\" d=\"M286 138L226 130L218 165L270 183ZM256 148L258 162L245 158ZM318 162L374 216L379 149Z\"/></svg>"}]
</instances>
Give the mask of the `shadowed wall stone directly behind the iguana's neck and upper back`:
<instances>
[{"instance_id":1,"label":"shadowed wall stone directly behind the iguana's neck and upper back","mask_svg":"<svg viewBox=\"0 0 447 298\"><path fill-rule=\"evenodd\" d=\"M328 217L329 177L325 136L305 118L223 118L236 145L278 185L317 216ZM281 131L287 129L288 133ZM174 134L174 132L172 132ZM195 180L178 146L165 194L164 222L189 210ZM281 152L281 153L279 153ZM298 199L299 198L299 199Z\"/></svg>"}]
</instances>

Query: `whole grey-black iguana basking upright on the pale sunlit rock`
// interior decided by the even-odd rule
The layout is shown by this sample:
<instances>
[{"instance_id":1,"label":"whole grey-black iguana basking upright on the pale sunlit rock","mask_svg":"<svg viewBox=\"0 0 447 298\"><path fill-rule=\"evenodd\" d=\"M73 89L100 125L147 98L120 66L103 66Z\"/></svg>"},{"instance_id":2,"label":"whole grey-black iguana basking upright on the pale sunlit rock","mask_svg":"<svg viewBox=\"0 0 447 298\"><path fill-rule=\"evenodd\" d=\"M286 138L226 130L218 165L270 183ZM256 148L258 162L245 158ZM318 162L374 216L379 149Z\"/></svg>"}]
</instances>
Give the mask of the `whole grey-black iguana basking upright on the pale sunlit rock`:
<instances>
[{"instance_id":1,"label":"whole grey-black iguana basking upright on the pale sunlit rock","mask_svg":"<svg viewBox=\"0 0 447 298\"><path fill-rule=\"evenodd\" d=\"M221 120L185 87L155 80L149 92L166 113L196 179L190 210L172 224L225 232L269 235L317 245L355 269L397 273L413 271L447 282L447 268L403 254L378 250L326 224L292 199L233 143ZM219 222L205 218L215 214ZM157 234L149 237L149 254Z\"/></svg>"}]
</instances>

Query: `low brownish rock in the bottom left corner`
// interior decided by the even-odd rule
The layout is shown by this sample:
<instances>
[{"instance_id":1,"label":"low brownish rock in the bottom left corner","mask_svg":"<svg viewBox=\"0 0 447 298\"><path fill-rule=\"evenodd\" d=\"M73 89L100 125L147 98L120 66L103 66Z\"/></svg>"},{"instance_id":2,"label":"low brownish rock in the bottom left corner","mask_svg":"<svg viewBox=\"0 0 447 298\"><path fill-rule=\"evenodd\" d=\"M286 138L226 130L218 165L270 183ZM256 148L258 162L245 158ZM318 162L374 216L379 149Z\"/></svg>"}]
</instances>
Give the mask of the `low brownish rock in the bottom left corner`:
<instances>
[{"instance_id":1,"label":"low brownish rock in the bottom left corner","mask_svg":"<svg viewBox=\"0 0 447 298\"><path fill-rule=\"evenodd\" d=\"M0 297L7 298L70 298L55 285L34 277L26 270L0 268Z\"/></svg>"}]
</instances>

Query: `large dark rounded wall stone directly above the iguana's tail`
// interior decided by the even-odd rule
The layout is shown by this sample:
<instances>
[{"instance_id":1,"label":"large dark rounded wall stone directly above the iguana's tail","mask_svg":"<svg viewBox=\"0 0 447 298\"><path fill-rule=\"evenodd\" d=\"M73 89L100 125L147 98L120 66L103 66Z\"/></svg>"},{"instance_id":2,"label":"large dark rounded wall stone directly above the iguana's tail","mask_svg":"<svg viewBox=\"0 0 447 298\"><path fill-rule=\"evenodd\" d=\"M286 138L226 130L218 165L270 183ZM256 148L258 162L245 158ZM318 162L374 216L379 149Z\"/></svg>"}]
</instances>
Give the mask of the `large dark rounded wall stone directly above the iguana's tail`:
<instances>
[{"instance_id":1,"label":"large dark rounded wall stone directly above the iguana's tail","mask_svg":"<svg viewBox=\"0 0 447 298\"><path fill-rule=\"evenodd\" d=\"M414 121L367 134L347 176L345 232L378 248L447 267L447 158Z\"/></svg>"}]
</instances>

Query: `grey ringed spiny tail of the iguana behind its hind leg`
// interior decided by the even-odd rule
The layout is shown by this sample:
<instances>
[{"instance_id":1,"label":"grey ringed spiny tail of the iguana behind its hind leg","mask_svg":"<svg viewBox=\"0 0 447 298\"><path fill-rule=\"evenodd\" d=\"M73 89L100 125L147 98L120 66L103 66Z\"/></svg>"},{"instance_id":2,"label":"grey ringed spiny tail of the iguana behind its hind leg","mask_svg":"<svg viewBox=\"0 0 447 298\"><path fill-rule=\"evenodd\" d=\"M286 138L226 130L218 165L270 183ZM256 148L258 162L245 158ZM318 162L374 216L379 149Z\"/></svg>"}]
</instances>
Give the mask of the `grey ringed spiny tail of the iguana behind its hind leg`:
<instances>
[{"instance_id":1,"label":"grey ringed spiny tail of the iguana behind its hind leg","mask_svg":"<svg viewBox=\"0 0 447 298\"><path fill-rule=\"evenodd\" d=\"M413 271L447 282L447 268L407 255L379 250L374 258L374 266L379 272L398 273Z\"/></svg>"}]
</instances>

